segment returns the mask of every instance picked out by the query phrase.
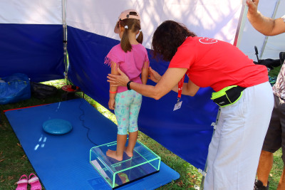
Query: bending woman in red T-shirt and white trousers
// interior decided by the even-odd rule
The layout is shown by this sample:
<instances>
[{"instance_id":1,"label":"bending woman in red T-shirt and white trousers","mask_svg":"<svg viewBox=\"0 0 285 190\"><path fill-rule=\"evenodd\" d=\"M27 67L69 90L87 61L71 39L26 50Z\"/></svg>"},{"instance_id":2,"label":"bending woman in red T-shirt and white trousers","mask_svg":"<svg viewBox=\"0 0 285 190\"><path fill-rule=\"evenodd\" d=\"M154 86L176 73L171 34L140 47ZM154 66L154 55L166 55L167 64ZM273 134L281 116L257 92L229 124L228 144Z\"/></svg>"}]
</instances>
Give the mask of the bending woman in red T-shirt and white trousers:
<instances>
[{"instance_id":1,"label":"bending woman in red T-shirt and white trousers","mask_svg":"<svg viewBox=\"0 0 285 190\"><path fill-rule=\"evenodd\" d=\"M157 85L134 83L119 70L108 76L111 85L127 86L147 97L159 100L175 90L195 95L199 88L211 87L231 100L219 98L219 123L209 144L204 189L253 189L262 143L273 108L273 95L264 65L253 60L230 43L197 37L175 21L163 22L152 38L154 56L170 61L160 76L150 68L150 79ZM182 81L188 76L188 83ZM234 85L234 86L233 86ZM182 89L182 92L178 89ZM233 101L232 101L233 97Z\"/></svg>"}]
</instances>

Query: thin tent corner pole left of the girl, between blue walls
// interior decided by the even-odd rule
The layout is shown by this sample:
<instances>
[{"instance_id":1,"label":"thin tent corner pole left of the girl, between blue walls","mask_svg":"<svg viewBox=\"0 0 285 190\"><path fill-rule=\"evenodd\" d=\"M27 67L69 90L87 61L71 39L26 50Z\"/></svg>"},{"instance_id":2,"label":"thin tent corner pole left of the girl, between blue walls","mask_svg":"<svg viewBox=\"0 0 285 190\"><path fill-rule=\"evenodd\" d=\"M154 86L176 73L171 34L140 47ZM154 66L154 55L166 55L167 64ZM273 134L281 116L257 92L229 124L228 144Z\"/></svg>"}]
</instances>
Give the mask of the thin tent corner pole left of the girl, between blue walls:
<instances>
[{"instance_id":1,"label":"thin tent corner pole left of the girl, between blue walls","mask_svg":"<svg viewBox=\"0 0 285 190\"><path fill-rule=\"evenodd\" d=\"M63 24L63 62L66 66L66 70L64 72L64 77L68 77L68 59L67 59L67 26L66 26L66 0L61 0L62 4L62 24Z\"/></svg>"}]
</instances>

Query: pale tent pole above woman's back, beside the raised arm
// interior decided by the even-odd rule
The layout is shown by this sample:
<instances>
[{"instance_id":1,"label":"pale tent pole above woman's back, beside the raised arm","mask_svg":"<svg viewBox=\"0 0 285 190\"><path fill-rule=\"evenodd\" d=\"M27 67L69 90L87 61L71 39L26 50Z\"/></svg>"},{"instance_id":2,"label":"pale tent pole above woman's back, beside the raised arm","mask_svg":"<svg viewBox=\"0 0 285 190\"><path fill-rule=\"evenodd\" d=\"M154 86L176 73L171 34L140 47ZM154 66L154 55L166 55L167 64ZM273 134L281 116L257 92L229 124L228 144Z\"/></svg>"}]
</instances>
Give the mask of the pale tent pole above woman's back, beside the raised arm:
<instances>
[{"instance_id":1,"label":"pale tent pole above woman's back, beside the raised arm","mask_svg":"<svg viewBox=\"0 0 285 190\"><path fill-rule=\"evenodd\" d=\"M242 3L242 11L239 16L239 23L237 24L237 32L236 36L234 37L234 46L239 48L239 43L242 40L242 33L244 31L244 23L247 19L247 11L249 10L249 7L246 6L245 1Z\"/></svg>"}]
</instances>

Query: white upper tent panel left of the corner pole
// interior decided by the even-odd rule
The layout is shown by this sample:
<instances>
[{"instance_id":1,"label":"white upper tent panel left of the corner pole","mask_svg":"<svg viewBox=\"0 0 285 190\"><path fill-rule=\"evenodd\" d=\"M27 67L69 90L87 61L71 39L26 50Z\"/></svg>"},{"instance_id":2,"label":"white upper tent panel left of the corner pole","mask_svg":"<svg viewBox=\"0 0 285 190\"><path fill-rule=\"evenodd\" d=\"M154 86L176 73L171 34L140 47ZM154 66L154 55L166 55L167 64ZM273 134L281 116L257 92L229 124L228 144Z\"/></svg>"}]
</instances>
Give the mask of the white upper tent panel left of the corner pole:
<instances>
[{"instance_id":1,"label":"white upper tent panel left of the corner pole","mask_svg":"<svg viewBox=\"0 0 285 190\"><path fill-rule=\"evenodd\" d=\"M61 0L0 0L0 23L61 24Z\"/></svg>"}]
</instances>

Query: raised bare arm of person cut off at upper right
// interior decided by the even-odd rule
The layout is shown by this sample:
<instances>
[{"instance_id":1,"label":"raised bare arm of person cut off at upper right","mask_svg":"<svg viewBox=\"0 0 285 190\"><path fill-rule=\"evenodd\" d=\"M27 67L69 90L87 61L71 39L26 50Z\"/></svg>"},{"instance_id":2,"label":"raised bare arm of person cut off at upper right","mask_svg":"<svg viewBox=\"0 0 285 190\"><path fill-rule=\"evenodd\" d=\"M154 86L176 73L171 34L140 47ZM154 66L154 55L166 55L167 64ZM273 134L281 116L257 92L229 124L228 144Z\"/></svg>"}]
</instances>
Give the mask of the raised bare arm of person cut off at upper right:
<instances>
[{"instance_id":1,"label":"raised bare arm of person cut off at upper right","mask_svg":"<svg viewBox=\"0 0 285 190\"><path fill-rule=\"evenodd\" d=\"M258 4L259 0L247 0L247 5L249 6L247 18L250 23L252 23L252 26L265 36L275 36L277 34L284 33L285 22L283 19L271 19L263 16L259 11L257 11Z\"/></svg>"}]
</instances>

